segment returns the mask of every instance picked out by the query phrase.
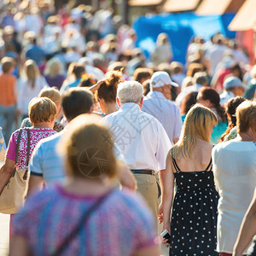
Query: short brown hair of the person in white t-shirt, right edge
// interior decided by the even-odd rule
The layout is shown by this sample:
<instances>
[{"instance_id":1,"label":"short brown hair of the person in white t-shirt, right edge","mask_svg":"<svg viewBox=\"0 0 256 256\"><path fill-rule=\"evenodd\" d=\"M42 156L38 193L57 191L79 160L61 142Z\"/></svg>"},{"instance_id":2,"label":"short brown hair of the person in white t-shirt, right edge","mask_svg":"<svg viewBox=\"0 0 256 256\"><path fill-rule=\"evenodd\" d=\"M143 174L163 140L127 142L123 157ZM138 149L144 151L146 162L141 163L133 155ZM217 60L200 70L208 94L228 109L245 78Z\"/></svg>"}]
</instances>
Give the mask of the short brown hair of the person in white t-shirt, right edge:
<instances>
[{"instance_id":1,"label":"short brown hair of the person in white t-shirt, right edge","mask_svg":"<svg viewBox=\"0 0 256 256\"><path fill-rule=\"evenodd\" d=\"M247 132L250 127L256 131L256 102L245 101L236 108L237 132Z\"/></svg>"}]
</instances>

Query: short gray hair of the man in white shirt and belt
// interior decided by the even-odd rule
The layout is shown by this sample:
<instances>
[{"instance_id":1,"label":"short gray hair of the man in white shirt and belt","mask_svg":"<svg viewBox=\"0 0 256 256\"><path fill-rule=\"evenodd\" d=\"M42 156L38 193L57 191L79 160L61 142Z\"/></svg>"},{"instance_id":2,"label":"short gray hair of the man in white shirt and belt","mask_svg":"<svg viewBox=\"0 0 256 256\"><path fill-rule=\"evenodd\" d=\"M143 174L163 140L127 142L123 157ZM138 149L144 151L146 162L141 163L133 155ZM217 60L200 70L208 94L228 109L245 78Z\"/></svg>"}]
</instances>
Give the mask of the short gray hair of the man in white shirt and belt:
<instances>
[{"instance_id":1,"label":"short gray hair of the man in white shirt and belt","mask_svg":"<svg viewBox=\"0 0 256 256\"><path fill-rule=\"evenodd\" d=\"M117 96L121 104L125 102L138 103L143 97L143 85L137 81L125 81L119 84Z\"/></svg>"}]
</instances>

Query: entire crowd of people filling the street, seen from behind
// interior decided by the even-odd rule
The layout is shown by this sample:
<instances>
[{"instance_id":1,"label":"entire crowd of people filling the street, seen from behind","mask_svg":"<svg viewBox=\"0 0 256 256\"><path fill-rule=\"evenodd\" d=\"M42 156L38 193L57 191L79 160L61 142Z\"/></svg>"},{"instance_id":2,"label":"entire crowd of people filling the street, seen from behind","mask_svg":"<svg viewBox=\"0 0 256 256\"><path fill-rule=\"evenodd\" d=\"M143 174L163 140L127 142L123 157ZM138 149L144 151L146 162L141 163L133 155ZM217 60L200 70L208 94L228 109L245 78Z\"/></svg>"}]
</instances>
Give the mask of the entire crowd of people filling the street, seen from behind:
<instances>
[{"instance_id":1,"label":"entire crowd of people filling the street, seen from behind","mask_svg":"<svg viewBox=\"0 0 256 256\"><path fill-rule=\"evenodd\" d=\"M10 255L255 255L256 65L221 33L146 58L105 3L0 3Z\"/></svg>"}]
</instances>

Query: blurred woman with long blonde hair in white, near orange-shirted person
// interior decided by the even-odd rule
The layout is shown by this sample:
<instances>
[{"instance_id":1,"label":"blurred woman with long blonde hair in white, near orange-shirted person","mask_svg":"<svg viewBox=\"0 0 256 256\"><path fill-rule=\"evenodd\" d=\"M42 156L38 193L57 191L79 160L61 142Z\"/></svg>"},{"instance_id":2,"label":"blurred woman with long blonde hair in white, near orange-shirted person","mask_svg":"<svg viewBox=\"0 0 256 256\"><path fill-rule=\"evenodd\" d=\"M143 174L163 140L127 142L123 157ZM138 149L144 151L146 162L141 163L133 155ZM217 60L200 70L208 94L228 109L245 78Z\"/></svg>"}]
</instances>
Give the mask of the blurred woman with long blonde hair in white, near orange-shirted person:
<instances>
[{"instance_id":1,"label":"blurred woman with long blonde hair in white, near orange-shirted person","mask_svg":"<svg viewBox=\"0 0 256 256\"><path fill-rule=\"evenodd\" d=\"M48 86L44 77L40 76L35 61L26 61L23 74L21 74L18 81L17 114L18 116L21 115L21 119L25 119L28 116L27 107L32 98L38 96L40 90Z\"/></svg>"}]
</instances>

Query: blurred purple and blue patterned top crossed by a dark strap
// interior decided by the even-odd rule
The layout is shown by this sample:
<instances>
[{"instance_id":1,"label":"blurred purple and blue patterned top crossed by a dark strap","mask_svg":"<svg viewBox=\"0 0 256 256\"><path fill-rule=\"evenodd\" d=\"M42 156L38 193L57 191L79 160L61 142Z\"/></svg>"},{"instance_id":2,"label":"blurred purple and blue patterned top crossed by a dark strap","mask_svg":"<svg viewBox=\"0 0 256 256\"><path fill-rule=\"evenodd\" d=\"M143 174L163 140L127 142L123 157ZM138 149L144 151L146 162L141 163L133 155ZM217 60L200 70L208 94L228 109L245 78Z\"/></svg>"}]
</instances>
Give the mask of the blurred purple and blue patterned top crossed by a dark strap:
<instances>
[{"instance_id":1,"label":"blurred purple and blue patterned top crossed by a dark strap","mask_svg":"<svg viewBox=\"0 0 256 256\"><path fill-rule=\"evenodd\" d=\"M49 255L99 197L73 195L64 188L32 195L14 219L33 255ZM157 242L154 218L141 196L115 189L90 215L87 224L61 255L128 256Z\"/></svg>"}]
</instances>

